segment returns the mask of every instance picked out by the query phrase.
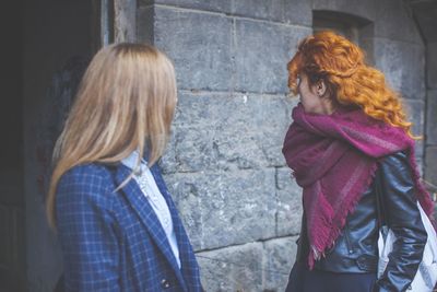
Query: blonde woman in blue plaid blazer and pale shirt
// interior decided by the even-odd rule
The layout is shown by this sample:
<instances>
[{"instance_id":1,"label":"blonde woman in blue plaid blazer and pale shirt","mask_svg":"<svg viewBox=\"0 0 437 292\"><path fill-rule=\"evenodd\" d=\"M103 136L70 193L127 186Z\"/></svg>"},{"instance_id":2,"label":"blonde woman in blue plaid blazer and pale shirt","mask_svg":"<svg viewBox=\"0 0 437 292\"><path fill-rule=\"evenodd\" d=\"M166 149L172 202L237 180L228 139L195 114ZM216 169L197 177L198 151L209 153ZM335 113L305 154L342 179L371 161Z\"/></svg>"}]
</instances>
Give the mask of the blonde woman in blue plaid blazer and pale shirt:
<instances>
[{"instance_id":1,"label":"blonde woman in blue plaid blazer and pale shirt","mask_svg":"<svg viewBox=\"0 0 437 292\"><path fill-rule=\"evenodd\" d=\"M118 44L93 58L55 149L47 200L66 291L201 291L156 161L176 105L172 62Z\"/></svg>"}]
</instances>

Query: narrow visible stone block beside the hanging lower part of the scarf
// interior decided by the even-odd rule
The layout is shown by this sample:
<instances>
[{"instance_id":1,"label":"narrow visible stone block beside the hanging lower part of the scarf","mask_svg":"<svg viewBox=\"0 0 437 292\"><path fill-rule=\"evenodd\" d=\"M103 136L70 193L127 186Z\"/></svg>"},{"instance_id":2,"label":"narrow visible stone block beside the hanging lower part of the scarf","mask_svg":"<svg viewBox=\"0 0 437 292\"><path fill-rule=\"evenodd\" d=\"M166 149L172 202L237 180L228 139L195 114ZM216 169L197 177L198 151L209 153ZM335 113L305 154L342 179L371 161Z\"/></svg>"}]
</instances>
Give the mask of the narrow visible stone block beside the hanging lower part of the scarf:
<instances>
[{"instance_id":1,"label":"narrow visible stone block beside the hanging lower part of the scarf","mask_svg":"<svg viewBox=\"0 0 437 292\"><path fill-rule=\"evenodd\" d=\"M302 189L288 167L276 168L276 235L298 234L302 222Z\"/></svg>"}]
</instances>

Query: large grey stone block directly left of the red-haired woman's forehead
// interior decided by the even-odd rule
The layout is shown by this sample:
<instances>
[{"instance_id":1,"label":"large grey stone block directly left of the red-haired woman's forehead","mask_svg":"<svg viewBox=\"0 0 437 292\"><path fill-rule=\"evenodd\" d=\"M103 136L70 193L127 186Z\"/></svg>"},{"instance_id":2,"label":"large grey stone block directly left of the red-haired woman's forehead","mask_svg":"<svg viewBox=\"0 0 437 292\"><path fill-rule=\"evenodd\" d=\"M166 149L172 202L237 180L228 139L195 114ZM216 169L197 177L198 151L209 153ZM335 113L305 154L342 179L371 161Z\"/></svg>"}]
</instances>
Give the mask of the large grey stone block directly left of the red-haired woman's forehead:
<instances>
[{"instance_id":1,"label":"large grey stone block directly left of the red-haired woman's forehead","mask_svg":"<svg viewBox=\"0 0 437 292\"><path fill-rule=\"evenodd\" d=\"M236 91L287 93L286 65L310 28L235 21Z\"/></svg>"}]
</instances>

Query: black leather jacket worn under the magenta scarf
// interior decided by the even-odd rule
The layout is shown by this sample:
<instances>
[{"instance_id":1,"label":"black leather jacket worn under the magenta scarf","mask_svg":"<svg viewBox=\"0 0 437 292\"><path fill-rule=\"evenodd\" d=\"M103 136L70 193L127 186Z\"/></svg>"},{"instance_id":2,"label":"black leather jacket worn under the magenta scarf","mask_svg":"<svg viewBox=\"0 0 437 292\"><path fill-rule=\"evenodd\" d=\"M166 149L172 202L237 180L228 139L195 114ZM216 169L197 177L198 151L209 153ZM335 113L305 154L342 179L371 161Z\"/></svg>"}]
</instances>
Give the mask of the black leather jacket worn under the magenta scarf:
<instances>
[{"instance_id":1,"label":"black leather jacket worn under the magenta scarf","mask_svg":"<svg viewBox=\"0 0 437 292\"><path fill-rule=\"evenodd\" d=\"M376 191L379 188L383 221L399 241L393 247L383 276L374 291L405 291L422 260L427 234L416 206L414 183L405 153L383 157L371 186L363 194L355 211L346 219L342 234L326 257L315 268L333 272L376 272L378 265L378 211ZM306 224L302 225L297 261L308 256Z\"/></svg>"}]
</instances>

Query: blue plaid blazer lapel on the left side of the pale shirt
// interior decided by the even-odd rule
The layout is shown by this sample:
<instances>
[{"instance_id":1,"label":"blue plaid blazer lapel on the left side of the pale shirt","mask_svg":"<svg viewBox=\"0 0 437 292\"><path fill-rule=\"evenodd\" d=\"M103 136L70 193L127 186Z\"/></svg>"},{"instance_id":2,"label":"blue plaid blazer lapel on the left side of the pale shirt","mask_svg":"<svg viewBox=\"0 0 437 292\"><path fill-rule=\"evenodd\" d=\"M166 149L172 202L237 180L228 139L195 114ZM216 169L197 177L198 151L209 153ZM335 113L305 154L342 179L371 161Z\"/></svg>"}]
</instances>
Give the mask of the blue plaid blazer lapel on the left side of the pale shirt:
<instances>
[{"instance_id":1,"label":"blue plaid blazer lapel on the left side of the pale shirt","mask_svg":"<svg viewBox=\"0 0 437 292\"><path fill-rule=\"evenodd\" d=\"M121 185L129 176L130 172L131 170L129 167L120 163L116 174L117 184ZM149 200L145 198L133 178L130 179L121 189L122 192L126 195L128 201L131 203L132 208L139 214L145 229L151 234L153 241L156 243L157 247L161 249L167 261L170 264L172 268L175 270L176 277L181 283L184 291L187 291L182 273L177 265L175 255L173 254L172 247L168 243L167 235L165 234L164 229L162 227L161 222L155 214L155 211L149 203Z\"/></svg>"}]
</instances>

